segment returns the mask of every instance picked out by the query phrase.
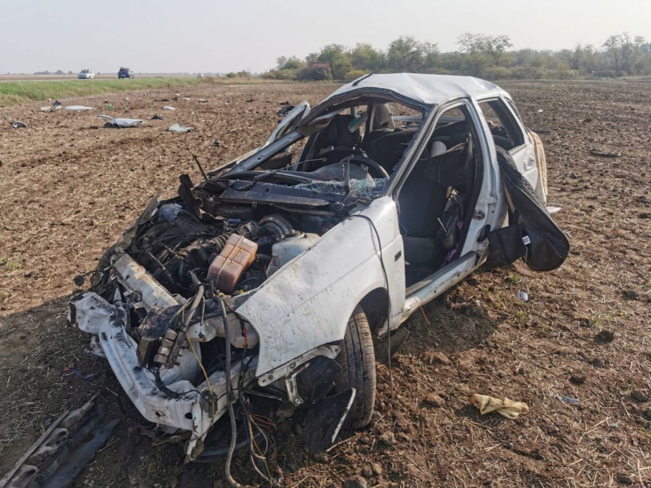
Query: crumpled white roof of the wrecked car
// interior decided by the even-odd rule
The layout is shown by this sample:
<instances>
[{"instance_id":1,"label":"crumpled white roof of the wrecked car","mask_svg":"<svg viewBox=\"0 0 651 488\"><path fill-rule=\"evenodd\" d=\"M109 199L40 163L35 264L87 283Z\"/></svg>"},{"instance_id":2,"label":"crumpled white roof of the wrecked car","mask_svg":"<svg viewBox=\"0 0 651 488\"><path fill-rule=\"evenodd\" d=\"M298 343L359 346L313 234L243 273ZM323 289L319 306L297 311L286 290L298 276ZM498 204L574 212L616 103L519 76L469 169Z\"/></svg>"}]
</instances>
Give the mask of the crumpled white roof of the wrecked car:
<instances>
[{"instance_id":1,"label":"crumpled white roof of the wrecked car","mask_svg":"<svg viewBox=\"0 0 651 488\"><path fill-rule=\"evenodd\" d=\"M328 98L340 96L354 90L376 88L378 90L391 90L419 105L437 105L456 96L478 96L482 93L501 89L490 81L472 76L378 73L372 74L365 79L362 78L359 77L357 80L340 87ZM357 82L358 80L359 82ZM357 82L357 85L355 85L355 82Z\"/></svg>"}]
</instances>

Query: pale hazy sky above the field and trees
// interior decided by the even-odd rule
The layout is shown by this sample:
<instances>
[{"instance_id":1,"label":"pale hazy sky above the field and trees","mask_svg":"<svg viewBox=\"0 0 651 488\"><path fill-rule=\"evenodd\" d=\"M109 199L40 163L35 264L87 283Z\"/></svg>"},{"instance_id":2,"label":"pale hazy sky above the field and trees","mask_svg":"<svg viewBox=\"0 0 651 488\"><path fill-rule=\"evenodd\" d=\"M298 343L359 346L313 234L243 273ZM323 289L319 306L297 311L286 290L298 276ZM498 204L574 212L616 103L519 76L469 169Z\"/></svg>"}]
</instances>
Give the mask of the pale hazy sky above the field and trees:
<instances>
[{"instance_id":1,"label":"pale hazy sky above the field and trees","mask_svg":"<svg viewBox=\"0 0 651 488\"><path fill-rule=\"evenodd\" d=\"M514 47L651 38L651 0L0 0L0 73L260 72L337 42L385 49L401 34L456 49L464 32Z\"/></svg>"}]
</instances>

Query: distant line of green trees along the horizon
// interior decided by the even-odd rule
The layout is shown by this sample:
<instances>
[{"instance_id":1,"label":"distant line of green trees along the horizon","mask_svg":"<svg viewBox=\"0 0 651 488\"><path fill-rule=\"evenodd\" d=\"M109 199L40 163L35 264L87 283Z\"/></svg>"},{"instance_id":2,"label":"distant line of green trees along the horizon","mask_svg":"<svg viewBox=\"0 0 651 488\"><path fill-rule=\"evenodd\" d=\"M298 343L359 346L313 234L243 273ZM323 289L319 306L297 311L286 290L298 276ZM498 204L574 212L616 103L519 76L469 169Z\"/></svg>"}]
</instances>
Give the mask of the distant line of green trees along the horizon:
<instances>
[{"instance_id":1,"label":"distant line of green trees along the horizon","mask_svg":"<svg viewBox=\"0 0 651 488\"><path fill-rule=\"evenodd\" d=\"M456 51L442 53L436 44L400 36L385 51L367 43L349 48L328 44L300 59L281 56L270 79L352 80L365 73L415 72L472 75L486 79L620 77L651 74L651 43L628 33L610 36L602 46L577 44L560 51L512 49L507 35L464 33ZM408 56L408 53L414 52ZM400 61L398 61L400 60ZM314 62L321 64L314 65ZM329 68L326 68L329 63Z\"/></svg>"}]
</instances>

